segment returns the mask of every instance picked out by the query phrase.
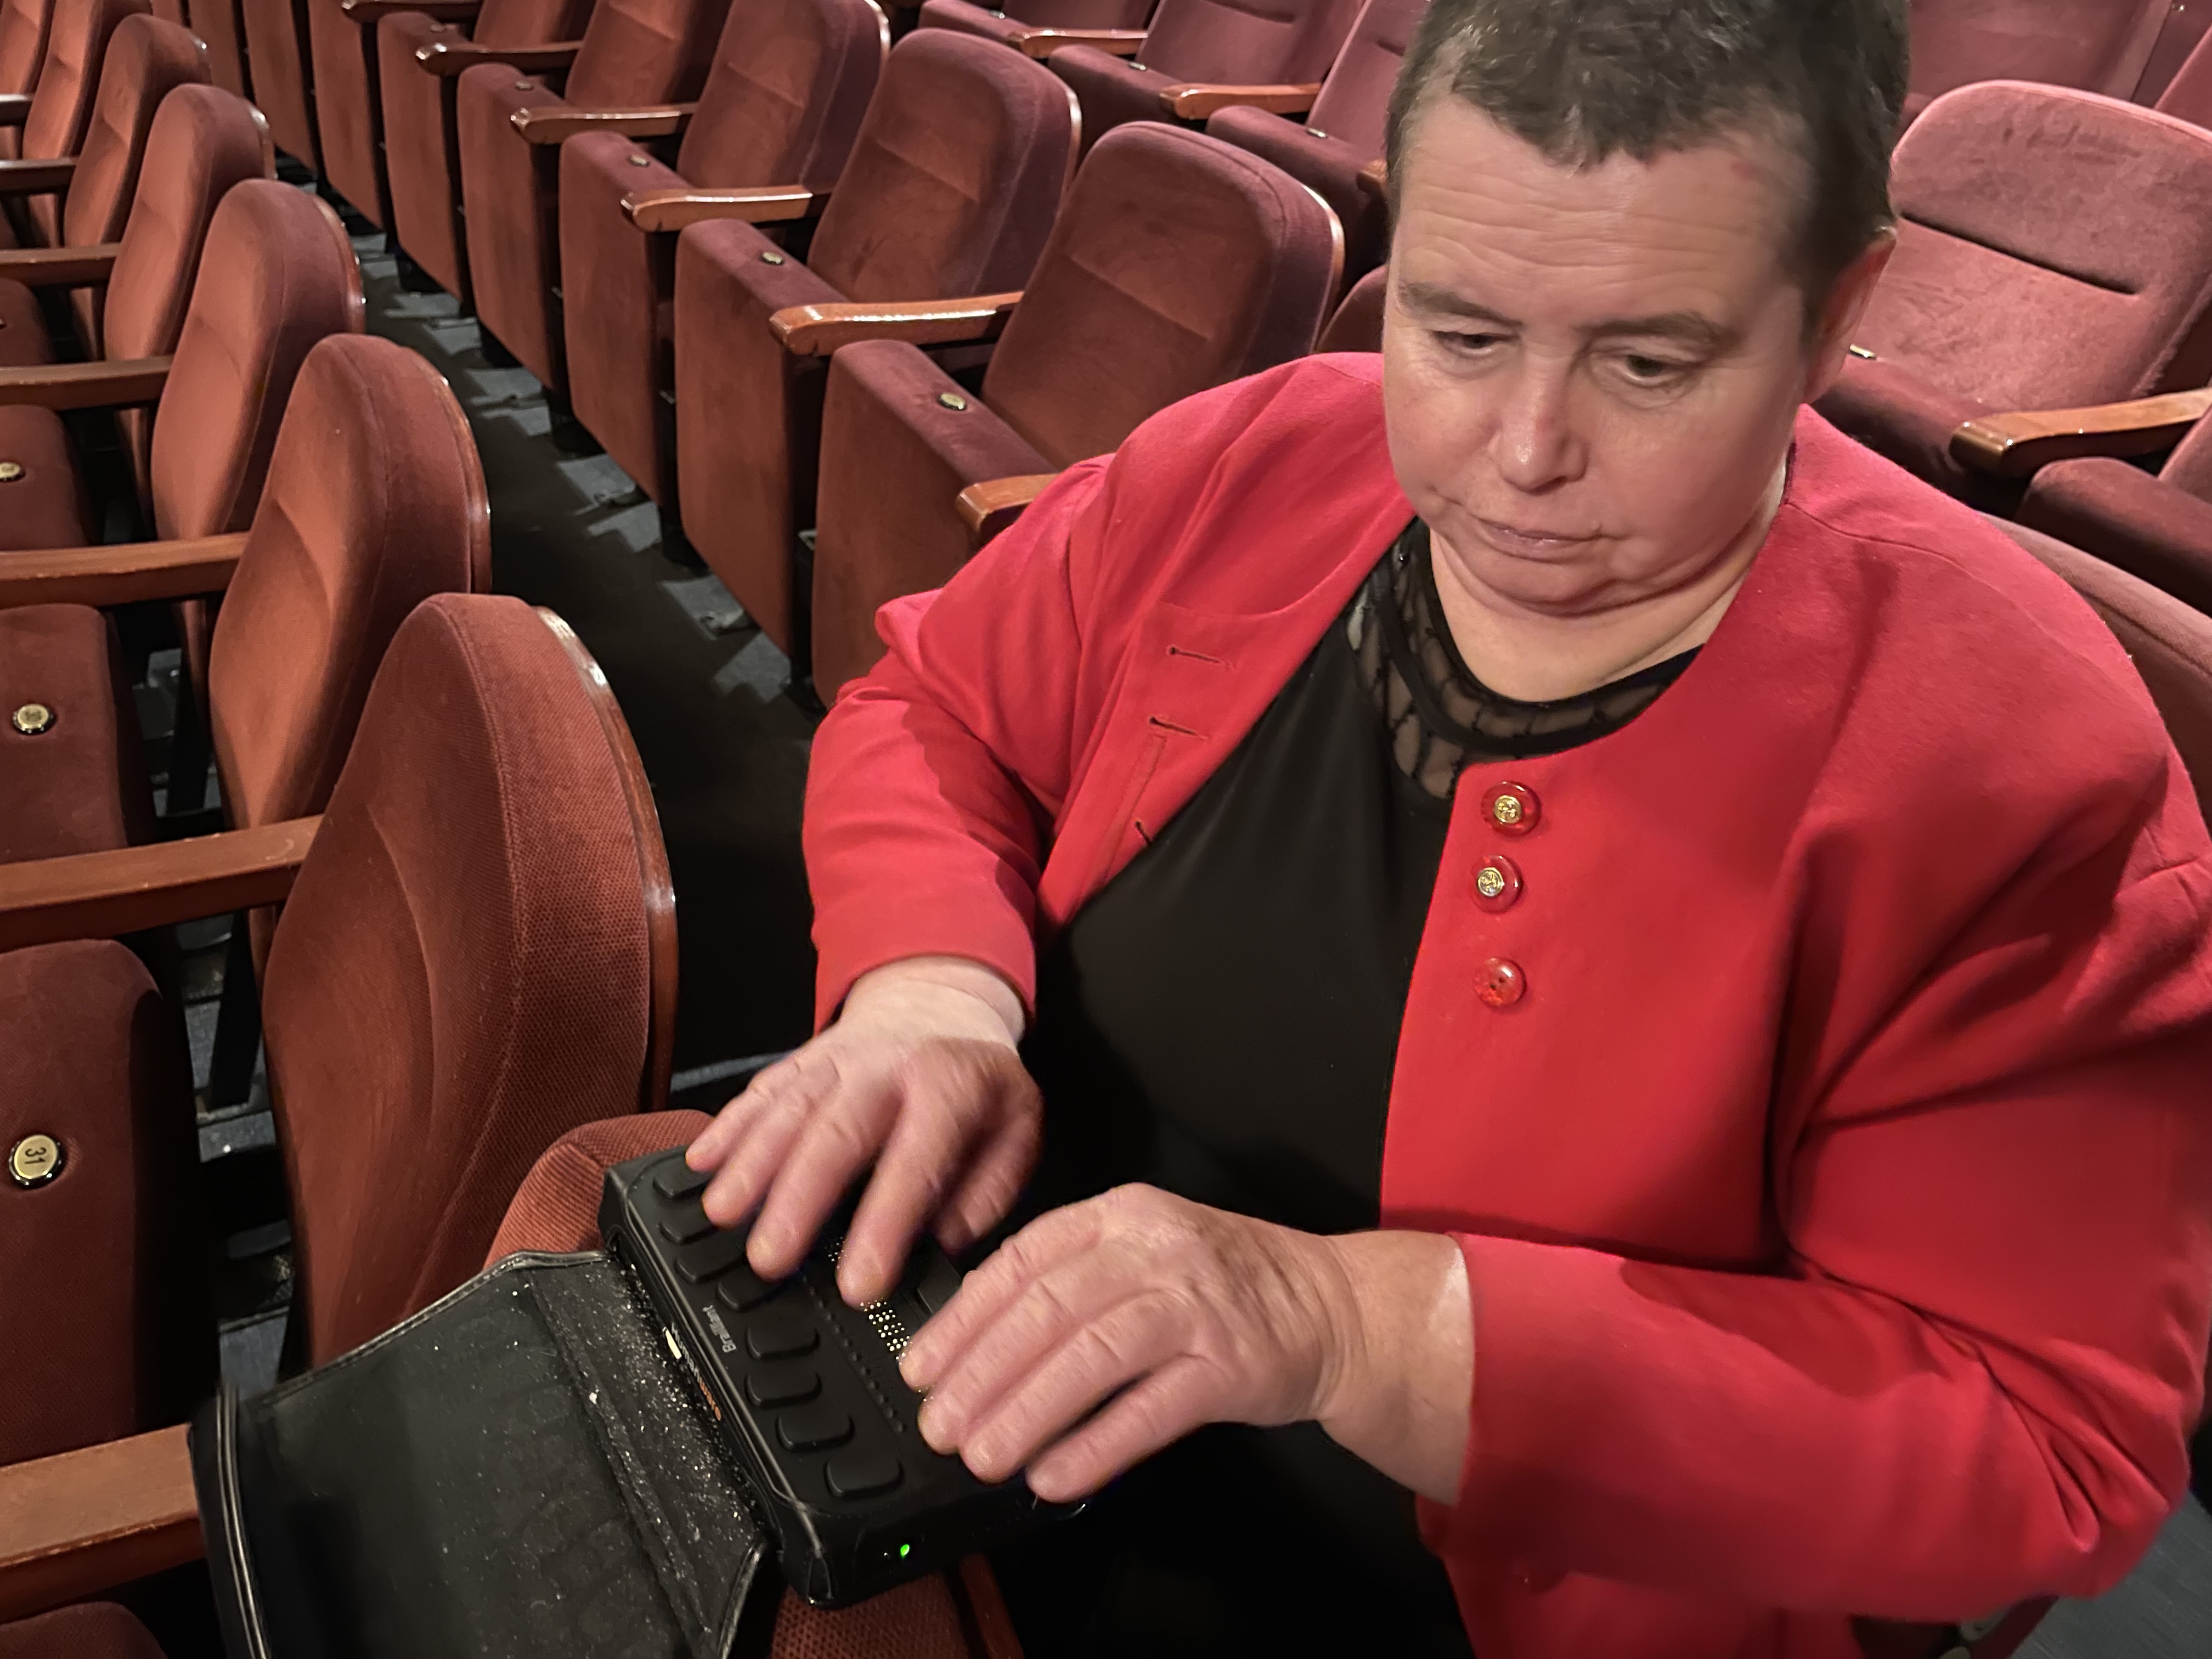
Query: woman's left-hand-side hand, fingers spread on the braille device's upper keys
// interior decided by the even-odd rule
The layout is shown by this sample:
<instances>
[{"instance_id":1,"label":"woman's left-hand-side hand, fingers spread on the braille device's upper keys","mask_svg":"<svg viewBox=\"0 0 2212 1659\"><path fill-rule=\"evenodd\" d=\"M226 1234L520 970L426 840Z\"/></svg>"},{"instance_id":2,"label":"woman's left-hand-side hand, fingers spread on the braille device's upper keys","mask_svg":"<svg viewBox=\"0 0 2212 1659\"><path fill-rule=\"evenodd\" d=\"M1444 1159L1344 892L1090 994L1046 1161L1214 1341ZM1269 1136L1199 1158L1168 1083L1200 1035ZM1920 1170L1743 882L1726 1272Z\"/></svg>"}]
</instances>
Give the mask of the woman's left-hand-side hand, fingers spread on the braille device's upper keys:
<instances>
[{"instance_id":1,"label":"woman's left-hand-side hand, fingers spread on the braille device's upper keys","mask_svg":"<svg viewBox=\"0 0 2212 1659\"><path fill-rule=\"evenodd\" d=\"M947 1250L989 1232L1037 1161L1042 1102L1015 1044L1022 1000L993 969L918 956L863 973L838 1022L721 1108L686 1161L714 1170L706 1212L757 1212L745 1256L781 1279L869 1164L838 1290L880 1301L916 1234Z\"/></svg>"}]
</instances>

